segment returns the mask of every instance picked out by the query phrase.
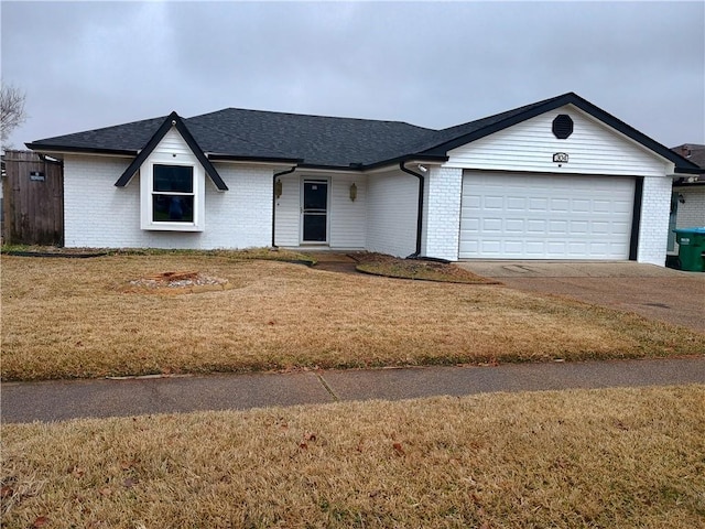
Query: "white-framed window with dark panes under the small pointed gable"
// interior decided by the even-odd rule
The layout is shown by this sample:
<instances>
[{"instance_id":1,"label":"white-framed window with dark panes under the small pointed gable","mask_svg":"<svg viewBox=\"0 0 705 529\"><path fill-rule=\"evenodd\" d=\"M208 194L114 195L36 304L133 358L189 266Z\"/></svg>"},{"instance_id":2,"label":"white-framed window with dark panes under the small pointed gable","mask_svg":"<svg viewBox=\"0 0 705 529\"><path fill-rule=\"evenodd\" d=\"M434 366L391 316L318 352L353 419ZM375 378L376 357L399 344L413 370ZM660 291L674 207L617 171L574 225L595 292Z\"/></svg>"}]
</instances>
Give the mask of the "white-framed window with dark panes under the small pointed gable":
<instances>
[{"instance_id":1,"label":"white-framed window with dark panes under the small pointed gable","mask_svg":"<svg viewBox=\"0 0 705 529\"><path fill-rule=\"evenodd\" d=\"M199 164L148 161L140 181L142 229L203 230L205 186Z\"/></svg>"}]
</instances>

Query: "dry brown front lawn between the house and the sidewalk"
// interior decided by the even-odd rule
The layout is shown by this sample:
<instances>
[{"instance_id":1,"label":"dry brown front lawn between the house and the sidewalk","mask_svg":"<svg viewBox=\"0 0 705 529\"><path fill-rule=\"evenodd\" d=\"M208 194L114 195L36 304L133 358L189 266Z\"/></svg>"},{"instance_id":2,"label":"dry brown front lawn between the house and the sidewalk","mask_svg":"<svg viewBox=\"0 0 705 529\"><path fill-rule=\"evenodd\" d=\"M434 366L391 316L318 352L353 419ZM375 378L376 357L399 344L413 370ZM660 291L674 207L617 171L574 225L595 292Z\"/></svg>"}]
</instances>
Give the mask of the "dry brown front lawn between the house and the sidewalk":
<instances>
[{"instance_id":1,"label":"dry brown front lawn between the house and the sidewalk","mask_svg":"<svg viewBox=\"0 0 705 529\"><path fill-rule=\"evenodd\" d=\"M217 255L1 259L4 380L702 353L684 328L501 287ZM129 292L173 270L232 289Z\"/></svg>"}]
</instances>

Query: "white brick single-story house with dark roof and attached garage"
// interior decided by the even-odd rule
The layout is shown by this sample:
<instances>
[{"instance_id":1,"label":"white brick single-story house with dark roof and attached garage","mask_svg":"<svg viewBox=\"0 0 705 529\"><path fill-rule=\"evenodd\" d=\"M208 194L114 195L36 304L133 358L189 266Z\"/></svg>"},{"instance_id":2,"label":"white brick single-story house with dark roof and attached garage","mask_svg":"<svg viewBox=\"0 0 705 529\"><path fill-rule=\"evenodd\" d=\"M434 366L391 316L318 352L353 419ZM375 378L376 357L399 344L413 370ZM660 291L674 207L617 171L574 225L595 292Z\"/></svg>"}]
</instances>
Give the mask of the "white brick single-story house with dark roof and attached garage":
<instances>
[{"instance_id":1,"label":"white brick single-story house with dark roof and attached garage","mask_svg":"<svg viewBox=\"0 0 705 529\"><path fill-rule=\"evenodd\" d=\"M28 147L64 161L68 247L663 266L672 180L698 171L573 93L443 130L229 108Z\"/></svg>"}]
</instances>

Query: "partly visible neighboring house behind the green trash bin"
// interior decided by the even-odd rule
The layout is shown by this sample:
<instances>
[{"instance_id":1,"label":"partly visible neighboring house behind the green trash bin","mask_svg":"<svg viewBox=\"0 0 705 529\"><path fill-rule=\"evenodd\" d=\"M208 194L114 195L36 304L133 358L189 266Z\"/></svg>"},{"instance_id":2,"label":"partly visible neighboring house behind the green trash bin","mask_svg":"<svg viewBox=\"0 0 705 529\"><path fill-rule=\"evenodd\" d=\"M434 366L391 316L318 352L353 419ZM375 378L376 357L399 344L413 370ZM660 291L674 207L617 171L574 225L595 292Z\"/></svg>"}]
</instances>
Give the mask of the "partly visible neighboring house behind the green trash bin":
<instances>
[{"instance_id":1,"label":"partly visible neighboring house behind the green trash bin","mask_svg":"<svg viewBox=\"0 0 705 529\"><path fill-rule=\"evenodd\" d=\"M673 181L668 252L676 255L673 229L705 226L705 145L685 143L672 150L701 168L699 175L681 175Z\"/></svg>"}]
</instances>

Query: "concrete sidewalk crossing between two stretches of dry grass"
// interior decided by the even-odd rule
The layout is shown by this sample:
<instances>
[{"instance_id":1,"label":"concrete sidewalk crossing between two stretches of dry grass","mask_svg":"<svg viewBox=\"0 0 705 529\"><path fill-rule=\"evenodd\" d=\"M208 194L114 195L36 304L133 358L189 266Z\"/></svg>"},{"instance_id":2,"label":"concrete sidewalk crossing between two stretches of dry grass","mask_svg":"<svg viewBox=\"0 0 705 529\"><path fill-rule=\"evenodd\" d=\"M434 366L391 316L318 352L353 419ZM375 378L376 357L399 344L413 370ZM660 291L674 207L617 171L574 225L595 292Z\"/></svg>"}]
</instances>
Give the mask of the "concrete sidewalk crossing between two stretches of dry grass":
<instances>
[{"instance_id":1,"label":"concrete sidewalk crossing between two stretches of dry grass","mask_svg":"<svg viewBox=\"0 0 705 529\"><path fill-rule=\"evenodd\" d=\"M438 395L705 384L705 356L124 380L4 382L2 422L401 400Z\"/></svg>"}]
</instances>

